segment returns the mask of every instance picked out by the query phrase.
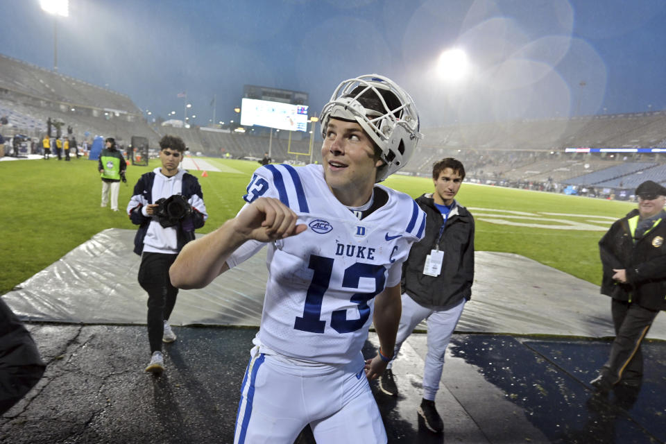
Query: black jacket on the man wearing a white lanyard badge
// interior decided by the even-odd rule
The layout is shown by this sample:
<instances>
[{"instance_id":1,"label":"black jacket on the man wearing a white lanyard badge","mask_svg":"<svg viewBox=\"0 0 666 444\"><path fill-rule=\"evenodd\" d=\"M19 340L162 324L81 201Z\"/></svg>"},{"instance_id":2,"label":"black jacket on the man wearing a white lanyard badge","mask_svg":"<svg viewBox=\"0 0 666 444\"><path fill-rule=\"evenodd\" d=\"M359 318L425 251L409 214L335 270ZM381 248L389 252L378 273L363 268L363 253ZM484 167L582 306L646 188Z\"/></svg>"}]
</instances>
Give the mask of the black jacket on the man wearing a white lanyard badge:
<instances>
[{"instance_id":1,"label":"black jacket on the man wearing a white lanyard badge","mask_svg":"<svg viewBox=\"0 0 666 444\"><path fill-rule=\"evenodd\" d=\"M474 218L465 207L456 203L448 217L443 233L442 214L435 207L432 194L416 199L426 213L423 239L411 246L409 257L402 266L402 290L414 302L425 307L453 307L463 298L472 297L474 281ZM457 214L456 214L457 213ZM444 252L442 271L437 276L423 274L425 257L436 244Z\"/></svg>"}]
</instances>

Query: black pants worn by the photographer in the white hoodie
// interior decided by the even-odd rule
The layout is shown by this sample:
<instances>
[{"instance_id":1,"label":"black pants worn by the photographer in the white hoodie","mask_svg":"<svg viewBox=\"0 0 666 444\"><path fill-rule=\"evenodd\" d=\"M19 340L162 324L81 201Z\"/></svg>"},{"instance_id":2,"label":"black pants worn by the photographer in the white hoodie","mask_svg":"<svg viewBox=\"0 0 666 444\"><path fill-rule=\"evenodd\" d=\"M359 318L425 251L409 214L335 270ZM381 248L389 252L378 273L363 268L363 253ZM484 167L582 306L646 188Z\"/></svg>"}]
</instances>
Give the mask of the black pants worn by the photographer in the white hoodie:
<instances>
[{"instance_id":1,"label":"black pants worn by the photographer in the white hoodie","mask_svg":"<svg viewBox=\"0 0 666 444\"><path fill-rule=\"evenodd\" d=\"M178 289L171 285L169 267L178 255L145 252L139 266L139 285L148 292L148 341L151 353L162 351L164 321L176 305Z\"/></svg>"}]
</instances>

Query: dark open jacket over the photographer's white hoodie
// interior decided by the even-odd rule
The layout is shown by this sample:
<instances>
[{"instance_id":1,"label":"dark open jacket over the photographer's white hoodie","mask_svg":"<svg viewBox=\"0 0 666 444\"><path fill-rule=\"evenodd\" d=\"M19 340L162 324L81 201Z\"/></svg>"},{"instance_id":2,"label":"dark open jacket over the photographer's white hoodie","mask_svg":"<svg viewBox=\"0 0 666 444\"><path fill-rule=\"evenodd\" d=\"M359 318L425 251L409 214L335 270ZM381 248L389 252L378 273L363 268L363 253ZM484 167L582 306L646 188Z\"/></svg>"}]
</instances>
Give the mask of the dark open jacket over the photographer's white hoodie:
<instances>
[{"instance_id":1,"label":"dark open jacket over the photographer's white hoodie","mask_svg":"<svg viewBox=\"0 0 666 444\"><path fill-rule=\"evenodd\" d=\"M155 182L155 173L153 171L150 173L142 174L142 176L139 178L139 181L137 182L137 185L134 186L134 195L144 196L144 198L148 200L148 203L154 203L153 182ZM189 173L185 173L182 176L182 190L180 194L186 200L189 200L189 198L194 196L194 194L203 199L203 193L201 192L201 185L199 185L199 181L196 180L196 177ZM150 225L151 221L153 220L153 218L150 216L144 216L142 208L143 205L139 204L130 210L130 220L135 225L139 225L139 230L137 230L137 234L134 237L134 253L137 253L139 256L144 251L144 237L146 237L146 232L148 232L148 225ZM192 210L192 214L189 217L191 218L191 223L194 225L194 229L196 230L197 228L203 227L205 219L203 214L198 212L196 208L193 208ZM178 235L178 251L180 251L188 241L192 240L192 238L183 232L182 223L180 223L180 225L176 225L176 230Z\"/></svg>"}]
</instances>

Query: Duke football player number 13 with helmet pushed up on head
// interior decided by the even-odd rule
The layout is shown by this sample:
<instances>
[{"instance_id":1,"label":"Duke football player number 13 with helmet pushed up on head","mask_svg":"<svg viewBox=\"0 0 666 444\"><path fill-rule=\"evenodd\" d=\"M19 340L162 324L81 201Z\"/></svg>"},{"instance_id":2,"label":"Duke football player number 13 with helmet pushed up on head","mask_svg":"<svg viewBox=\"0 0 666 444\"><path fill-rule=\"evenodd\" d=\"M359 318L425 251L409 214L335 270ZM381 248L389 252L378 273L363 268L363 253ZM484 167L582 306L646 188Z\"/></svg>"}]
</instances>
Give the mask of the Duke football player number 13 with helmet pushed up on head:
<instances>
[{"instance_id":1,"label":"Duke football player number 13 with helmet pushed up on head","mask_svg":"<svg viewBox=\"0 0 666 444\"><path fill-rule=\"evenodd\" d=\"M420 134L411 97L376 74L345 80L324 106L322 164L255 171L234 219L191 242L171 282L201 288L268 245L259 332L241 386L235 443L385 443L368 379L393 357L400 275L425 214L377 185L411 157ZM361 348L370 323L377 356Z\"/></svg>"}]
</instances>

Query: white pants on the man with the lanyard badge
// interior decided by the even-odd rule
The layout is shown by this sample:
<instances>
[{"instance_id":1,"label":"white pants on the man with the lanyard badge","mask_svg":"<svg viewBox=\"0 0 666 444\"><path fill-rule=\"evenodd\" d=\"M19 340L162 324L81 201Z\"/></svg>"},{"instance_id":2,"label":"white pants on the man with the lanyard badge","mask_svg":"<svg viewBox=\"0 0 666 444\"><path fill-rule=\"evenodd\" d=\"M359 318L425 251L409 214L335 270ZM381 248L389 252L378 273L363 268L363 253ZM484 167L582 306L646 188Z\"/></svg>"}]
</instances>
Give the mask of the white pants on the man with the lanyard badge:
<instances>
[{"instance_id":1,"label":"white pants on the man with the lanyard badge","mask_svg":"<svg viewBox=\"0 0 666 444\"><path fill-rule=\"evenodd\" d=\"M414 331L416 325L427 318L428 352L425 356L425 366L423 367L423 398L427 400L435 400L439 381L442 379L446 348L449 345L449 341L451 341L451 336L460 316L463 314L465 302L467 302L467 299L463 298L455 307L436 311L418 305L407 293L402 293L402 315L400 315L398 334L395 337L393 360L398 357L402 343ZM388 363L386 368L391 368L393 360Z\"/></svg>"}]
</instances>

